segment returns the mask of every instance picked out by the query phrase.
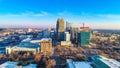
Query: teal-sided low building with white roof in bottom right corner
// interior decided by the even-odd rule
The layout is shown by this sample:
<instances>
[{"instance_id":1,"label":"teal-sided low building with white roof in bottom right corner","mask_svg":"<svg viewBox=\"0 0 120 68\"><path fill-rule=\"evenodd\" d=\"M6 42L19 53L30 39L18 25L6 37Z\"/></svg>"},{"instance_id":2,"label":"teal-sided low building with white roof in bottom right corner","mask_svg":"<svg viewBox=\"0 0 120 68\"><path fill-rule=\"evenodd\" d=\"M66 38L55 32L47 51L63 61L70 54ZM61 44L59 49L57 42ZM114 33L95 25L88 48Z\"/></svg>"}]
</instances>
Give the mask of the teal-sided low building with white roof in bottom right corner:
<instances>
[{"instance_id":1,"label":"teal-sided low building with white roof in bottom right corner","mask_svg":"<svg viewBox=\"0 0 120 68\"><path fill-rule=\"evenodd\" d=\"M103 56L93 56L93 65L95 68L120 68L120 62Z\"/></svg>"}]
</instances>

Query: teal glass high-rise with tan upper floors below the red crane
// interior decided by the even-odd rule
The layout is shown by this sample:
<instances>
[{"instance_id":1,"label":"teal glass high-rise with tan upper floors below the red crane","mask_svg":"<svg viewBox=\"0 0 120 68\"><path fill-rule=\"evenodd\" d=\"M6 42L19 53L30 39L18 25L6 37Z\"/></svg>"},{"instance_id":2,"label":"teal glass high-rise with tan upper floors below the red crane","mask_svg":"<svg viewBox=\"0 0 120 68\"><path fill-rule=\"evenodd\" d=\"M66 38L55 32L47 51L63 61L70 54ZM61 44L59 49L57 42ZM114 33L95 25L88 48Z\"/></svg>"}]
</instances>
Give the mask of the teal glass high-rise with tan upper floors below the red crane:
<instances>
[{"instance_id":1,"label":"teal glass high-rise with tan upper floors below the red crane","mask_svg":"<svg viewBox=\"0 0 120 68\"><path fill-rule=\"evenodd\" d=\"M78 46L85 46L90 44L90 29L89 27L81 27L78 32Z\"/></svg>"}]
</instances>

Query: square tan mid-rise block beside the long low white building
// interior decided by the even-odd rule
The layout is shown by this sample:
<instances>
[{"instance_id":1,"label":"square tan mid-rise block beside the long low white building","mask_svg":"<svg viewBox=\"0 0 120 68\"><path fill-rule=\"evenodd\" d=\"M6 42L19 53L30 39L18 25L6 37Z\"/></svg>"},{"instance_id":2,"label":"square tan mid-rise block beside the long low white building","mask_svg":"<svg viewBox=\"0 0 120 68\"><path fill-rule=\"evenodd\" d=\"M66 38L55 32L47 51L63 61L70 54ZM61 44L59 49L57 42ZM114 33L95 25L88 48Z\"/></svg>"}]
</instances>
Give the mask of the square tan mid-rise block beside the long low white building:
<instances>
[{"instance_id":1,"label":"square tan mid-rise block beside the long low white building","mask_svg":"<svg viewBox=\"0 0 120 68\"><path fill-rule=\"evenodd\" d=\"M40 52L43 54L47 54L48 52L52 52L52 39L51 38L41 39Z\"/></svg>"}]
</instances>

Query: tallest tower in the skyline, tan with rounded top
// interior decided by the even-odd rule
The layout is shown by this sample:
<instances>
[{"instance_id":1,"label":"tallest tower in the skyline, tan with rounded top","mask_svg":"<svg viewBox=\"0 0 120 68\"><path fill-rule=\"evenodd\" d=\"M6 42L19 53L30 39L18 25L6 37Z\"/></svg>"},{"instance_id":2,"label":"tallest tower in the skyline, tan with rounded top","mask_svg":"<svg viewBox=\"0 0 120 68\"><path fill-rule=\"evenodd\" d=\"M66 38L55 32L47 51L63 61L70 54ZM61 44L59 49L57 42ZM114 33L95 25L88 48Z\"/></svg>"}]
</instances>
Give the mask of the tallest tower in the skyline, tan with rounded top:
<instances>
[{"instance_id":1,"label":"tallest tower in the skyline, tan with rounded top","mask_svg":"<svg viewBox=\"0 0 120 68\"><path fill-rule=\"evenodd\" d=\"M64 31L65 31L65 26L64 25L65 25L64 20L59 18L57 20L57 25L56 25L57 40L58 41L63 41L64 40Z\"/></svg>"}]
</instances>

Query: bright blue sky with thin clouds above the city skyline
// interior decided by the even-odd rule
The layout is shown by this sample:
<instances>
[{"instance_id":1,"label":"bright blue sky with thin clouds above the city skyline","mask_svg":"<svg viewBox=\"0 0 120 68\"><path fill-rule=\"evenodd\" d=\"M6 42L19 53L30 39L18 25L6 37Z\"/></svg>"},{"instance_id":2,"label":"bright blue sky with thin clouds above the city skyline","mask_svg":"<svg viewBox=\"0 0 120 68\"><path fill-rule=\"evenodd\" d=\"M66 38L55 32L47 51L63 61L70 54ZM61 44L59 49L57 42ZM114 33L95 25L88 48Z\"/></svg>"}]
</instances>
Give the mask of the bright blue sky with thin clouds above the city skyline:
<instances>
[{"instance_id":1,"label":"bright blue sky with thin clouds above the city skyline","mask_svg":"<svg viewBox=\"0 0 120 68\"><path fill-rule=\"evenodd\" d=\"M0 0L0 28L55 27L58 18L92 29L120 29L120 0Z\"/></svg>"}]
</instances>

